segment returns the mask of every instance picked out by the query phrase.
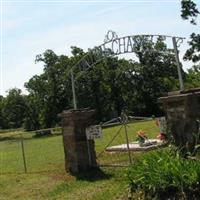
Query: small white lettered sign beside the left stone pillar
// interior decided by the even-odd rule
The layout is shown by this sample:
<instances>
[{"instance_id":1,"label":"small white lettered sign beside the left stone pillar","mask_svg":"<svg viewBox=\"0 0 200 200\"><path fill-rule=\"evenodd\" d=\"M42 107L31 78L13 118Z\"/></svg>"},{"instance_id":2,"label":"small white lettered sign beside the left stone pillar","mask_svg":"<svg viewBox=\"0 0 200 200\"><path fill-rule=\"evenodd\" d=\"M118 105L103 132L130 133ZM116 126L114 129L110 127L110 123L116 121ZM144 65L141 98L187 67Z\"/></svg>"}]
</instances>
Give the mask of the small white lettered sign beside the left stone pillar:
<instances>
[{"instance_id":1,"label":"small white lettered sign beside the left stone pillar","mask_svg":"<svg viewBox=\"0 0 200 200\"><path fill-rule=\"evenodd\" d=\"M102 138L102 129L100 125L89 126L86 128L86 136L88 140Z\"/></svg>"}]
</instances>

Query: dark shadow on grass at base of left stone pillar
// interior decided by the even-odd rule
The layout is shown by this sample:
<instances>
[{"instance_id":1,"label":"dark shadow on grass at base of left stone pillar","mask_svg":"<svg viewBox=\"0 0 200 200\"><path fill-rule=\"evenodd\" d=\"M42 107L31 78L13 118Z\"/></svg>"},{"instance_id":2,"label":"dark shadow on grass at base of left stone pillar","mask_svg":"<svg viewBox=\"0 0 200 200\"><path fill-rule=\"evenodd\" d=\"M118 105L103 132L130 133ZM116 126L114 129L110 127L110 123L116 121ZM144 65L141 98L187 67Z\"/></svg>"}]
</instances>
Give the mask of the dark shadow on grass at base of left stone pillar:
<instances>
[{"instance_id":1,"label":"dark shadow on grass at base of left stone pillar","mask_svg":"<svg viewBox=\"0 0 200 200\"><path fill-rule=\"evenodd\" d=\"M77 180L86 180L91 182L110 179L112 177L111 174L105 173L100 168L93 168L90 171L73 173L72 175L75 176Z\"/></svg>"}]
</instances>

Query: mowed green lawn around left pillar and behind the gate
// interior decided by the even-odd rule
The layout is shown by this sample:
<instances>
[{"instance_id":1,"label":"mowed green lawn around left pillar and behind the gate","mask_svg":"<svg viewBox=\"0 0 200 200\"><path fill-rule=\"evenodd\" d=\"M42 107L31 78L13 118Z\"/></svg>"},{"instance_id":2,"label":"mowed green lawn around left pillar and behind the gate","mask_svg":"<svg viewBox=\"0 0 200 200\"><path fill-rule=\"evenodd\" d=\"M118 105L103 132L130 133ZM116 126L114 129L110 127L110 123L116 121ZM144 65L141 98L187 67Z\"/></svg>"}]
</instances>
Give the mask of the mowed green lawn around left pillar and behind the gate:
<instances>
[{"instance_id":1,"label":"mowed green lawn around left pillar and behind the gate","mask_svg":"<svg viewBox=\"0 0 200 200\"><path fill-rule=\"evenodd\" d=\"M103 129L103 138L95 141L97 155L116 135L120 126ZM134 141L138 130L149 138L159 133L154 121L128 124L129 141ZM24 173L21 133L25 150L27 173ZM33 138L33 134L17 131L0 133L0 199L123 199L127 194L124 180L126 167L106 167L98 172L71 176L64 169L61 135ZM126 143L124 128L111 145ZM134 159L140 153L132 153ZM98 157L99 164L128 164L127 153L106 153Z\"/></svg>"}]
</instances>

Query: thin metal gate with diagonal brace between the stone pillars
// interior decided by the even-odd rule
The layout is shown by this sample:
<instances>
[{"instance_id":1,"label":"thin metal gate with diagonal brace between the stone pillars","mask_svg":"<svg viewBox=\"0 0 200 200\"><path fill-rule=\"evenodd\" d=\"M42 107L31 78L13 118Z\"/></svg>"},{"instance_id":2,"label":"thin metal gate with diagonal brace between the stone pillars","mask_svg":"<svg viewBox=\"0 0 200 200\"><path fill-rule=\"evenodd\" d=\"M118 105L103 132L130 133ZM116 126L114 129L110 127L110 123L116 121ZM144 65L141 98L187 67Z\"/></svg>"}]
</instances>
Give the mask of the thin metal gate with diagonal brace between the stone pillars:
<instances>
[{"instance_id":1,"label":"thin metal gate with diagonal brace between the stone pillars","mask_svg":"<svg viewBox=\"0 0 200 200\"><path fill-rule=\"evenodd\" d=\"M99 166L129 166L133 164L139 152L156 149L157 146L154 145L145 148L135 147L137 146L135 144L138 144L135 141L138 130L135 129L136 123L134 122L140 121L145 123L152 120L155 120L155 118L127 116L122 112L120 117L101 124L104 132L103 138L95 141ZM112 127L112 129L109 127ZM159 127L156 125L153 127L153 130L151 128L148 128L149 132L160 132Z\"/></svg>"}]
</instances>

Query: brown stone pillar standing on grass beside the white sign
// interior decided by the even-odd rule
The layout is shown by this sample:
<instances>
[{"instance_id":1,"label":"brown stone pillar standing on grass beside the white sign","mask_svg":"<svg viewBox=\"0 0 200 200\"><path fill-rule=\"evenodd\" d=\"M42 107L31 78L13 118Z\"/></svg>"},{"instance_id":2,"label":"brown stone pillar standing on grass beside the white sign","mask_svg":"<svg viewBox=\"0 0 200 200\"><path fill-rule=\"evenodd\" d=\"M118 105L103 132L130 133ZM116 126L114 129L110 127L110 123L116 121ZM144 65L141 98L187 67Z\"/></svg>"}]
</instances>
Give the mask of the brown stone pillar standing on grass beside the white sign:
<instances>
[{"instance_id":1,"label":"brown stone pillar standing on grass beside the white sign","mask_svg":"<svg viewBox=\"0 0 200 200\"><path fill-rule=\"evenodd\" d=\"M85 132L94 113L94 110L76 109L61 114L66 171L79 173L97 166L94 141L87 140Z\"/></svg>"}]
</instances>

